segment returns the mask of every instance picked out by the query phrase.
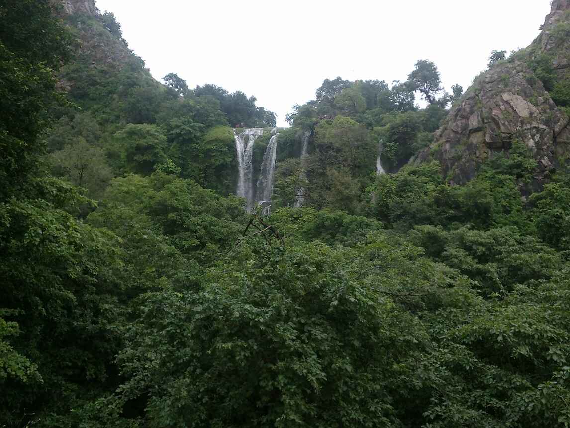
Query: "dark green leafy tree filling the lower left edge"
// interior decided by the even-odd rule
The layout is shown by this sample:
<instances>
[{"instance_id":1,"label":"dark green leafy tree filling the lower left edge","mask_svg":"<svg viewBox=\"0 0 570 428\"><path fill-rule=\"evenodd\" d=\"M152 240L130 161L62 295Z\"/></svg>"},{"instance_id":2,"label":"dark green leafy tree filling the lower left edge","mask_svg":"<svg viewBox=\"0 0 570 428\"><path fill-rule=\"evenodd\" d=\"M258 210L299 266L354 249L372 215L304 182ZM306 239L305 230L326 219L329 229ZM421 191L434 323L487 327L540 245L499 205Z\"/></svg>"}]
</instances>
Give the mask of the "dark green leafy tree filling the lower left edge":
<instances>
[{"instance_id":1,"label":"dark green leafy tree filling the lower left edge","mask_svg":"<svg viewBox=\"0 0 570 428\"><path fill-rule=\"evenodd\" d=\"M0 341L9 374L0 380L0 423L8 426L53 426L48 415L67 414L101 391L117 352L109 328L120 318L118 242L58 208L83 201L71 185L43 179L42 188L41 199L0 204L0 313L7 321L0 325L12 334L8 346Z\"/></svg>"}]
</instances>

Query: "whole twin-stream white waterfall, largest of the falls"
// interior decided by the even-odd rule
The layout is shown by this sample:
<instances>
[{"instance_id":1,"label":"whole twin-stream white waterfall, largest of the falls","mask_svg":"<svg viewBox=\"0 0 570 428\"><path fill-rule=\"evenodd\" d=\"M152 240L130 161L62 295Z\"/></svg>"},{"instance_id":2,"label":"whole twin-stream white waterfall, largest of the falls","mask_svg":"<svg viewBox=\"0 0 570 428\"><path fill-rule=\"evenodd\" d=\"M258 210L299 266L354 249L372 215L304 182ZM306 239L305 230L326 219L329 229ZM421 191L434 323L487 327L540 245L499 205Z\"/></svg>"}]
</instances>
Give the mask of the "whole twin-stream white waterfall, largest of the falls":
<instances>
[{"instance_id":1,"label":"whole twin-stream white waterfall, largest of the falls","mask_svg":"<svg viewBox=\"0 0 570 428\"><path fill-rule=\"evenodd\" d=\"M251 212L255 203L262 208L262 215L268 215L273 192L273 177L275 174L275 158L277 155L278 129L271 130L271 139L267 144L259 171L257 183L253 182L253 146L255 140L263 135L263 128L243 130L235 135L235 150L238 157L238 185L236 194L246 199L246 211Z\"/></svg>"}]
</instances>

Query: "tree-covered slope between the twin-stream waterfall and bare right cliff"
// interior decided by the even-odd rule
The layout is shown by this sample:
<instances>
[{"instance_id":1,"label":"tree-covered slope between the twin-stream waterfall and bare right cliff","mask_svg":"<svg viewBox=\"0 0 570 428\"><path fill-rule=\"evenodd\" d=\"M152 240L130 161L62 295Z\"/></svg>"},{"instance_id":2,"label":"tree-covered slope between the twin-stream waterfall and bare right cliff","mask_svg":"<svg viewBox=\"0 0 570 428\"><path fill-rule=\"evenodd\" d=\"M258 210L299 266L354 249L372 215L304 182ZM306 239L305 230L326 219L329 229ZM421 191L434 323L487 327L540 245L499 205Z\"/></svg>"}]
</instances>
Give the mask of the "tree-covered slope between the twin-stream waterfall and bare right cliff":
<instances>
[{"instance_id":1,"label":"tree-covered slope between the twin-stream waterfall and bare right cliff","mask_svg":"<svg viewBox=\"0 0 570 428\"><path fill-rule=\"evenodd\" d=\"M443 91L439 71L429 60L419 60L408 80L391 87L384 80L325 79L316 99L295 106L287 116L292 128L279 137L276 203L293 206L291 193L303 188L313 207L356 213L376 157L381 155L385 171L396 172L428 147L447 116L447 106L459 99L463 88L455 84L451 91L453 95ZM417 92L427 107L415 104ZM289 159L299 157L307 132L310 156L291 168ZM306 180L298 179L300 170ZM296 191L291 191L294 183Z\"/></svg>"}]
</instances>

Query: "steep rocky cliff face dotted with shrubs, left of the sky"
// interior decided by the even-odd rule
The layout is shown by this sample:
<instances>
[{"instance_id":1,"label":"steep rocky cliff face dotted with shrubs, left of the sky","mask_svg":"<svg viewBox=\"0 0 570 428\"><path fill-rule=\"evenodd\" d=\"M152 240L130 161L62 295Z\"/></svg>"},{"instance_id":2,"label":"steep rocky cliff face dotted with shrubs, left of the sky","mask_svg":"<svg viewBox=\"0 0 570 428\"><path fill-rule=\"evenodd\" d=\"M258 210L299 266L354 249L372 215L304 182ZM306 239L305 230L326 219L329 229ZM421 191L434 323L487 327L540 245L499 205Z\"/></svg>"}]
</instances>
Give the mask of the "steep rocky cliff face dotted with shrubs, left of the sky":
<instances>
[{"instance_id":1,"label":"steep rocky cliff face dotted with shrubs, left of the sky","mask_svg":"<svg viewBox=\"0 0 570 428\"><path fill-rule=\"evenodd\" d=\"M93 120L105 123L133 122L131 111L150 110L146 104L154 106L164 88L129 49L113 15L101 14L94 0L51 1L63 5L62 18L75 41L75 55L59 73L69 98L84 113L92 113ZM137 101L127 105L127 99Z\"/></svg>"}]
</instances>

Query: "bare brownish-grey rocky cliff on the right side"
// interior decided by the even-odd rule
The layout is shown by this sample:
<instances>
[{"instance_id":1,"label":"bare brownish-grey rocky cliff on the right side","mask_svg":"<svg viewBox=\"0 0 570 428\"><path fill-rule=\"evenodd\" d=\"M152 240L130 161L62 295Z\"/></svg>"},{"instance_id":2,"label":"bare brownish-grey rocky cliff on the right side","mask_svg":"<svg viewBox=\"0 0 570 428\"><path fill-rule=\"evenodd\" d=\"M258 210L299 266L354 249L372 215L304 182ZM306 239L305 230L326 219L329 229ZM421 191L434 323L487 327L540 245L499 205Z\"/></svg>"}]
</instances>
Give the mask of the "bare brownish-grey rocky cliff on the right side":
<instances>
[{"instance_id":1,"label":"bare brownish-grey rocky cliff on the right side","mask_svg":"<svg viewBox=\"0 0 570 428\"><path fill-rule=\"evenodd\" d=\"M537 56L564 79L570 72L570 0L554 0L543 31L526 50L495 64L475 79L435 134L435 142L414 160L439 160L454 183L473 178L481 163L523 142L538 161L535 184L548 179L570 153L568 116L556 106L531 68ZM544 80L544 79L543 79Z\"/></svg>"}]
</instances>

